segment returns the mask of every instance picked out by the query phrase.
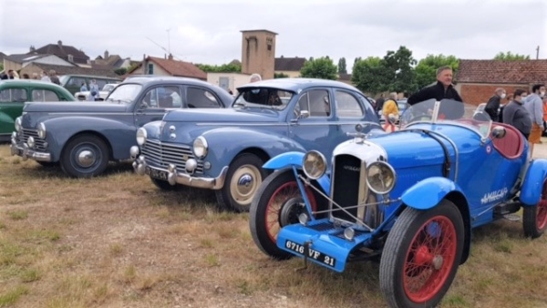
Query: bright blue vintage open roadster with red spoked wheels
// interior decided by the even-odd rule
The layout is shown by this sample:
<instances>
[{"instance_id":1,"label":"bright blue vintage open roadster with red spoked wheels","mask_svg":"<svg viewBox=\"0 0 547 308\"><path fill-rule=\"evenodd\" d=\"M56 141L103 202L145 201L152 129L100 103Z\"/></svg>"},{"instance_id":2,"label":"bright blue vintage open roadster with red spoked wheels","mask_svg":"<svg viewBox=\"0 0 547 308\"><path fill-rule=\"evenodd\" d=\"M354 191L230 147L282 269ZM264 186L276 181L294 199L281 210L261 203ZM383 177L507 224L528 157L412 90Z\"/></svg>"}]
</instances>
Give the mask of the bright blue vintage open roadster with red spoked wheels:
<instances>
[{"instance_id":1,"label":"bright blue vintage open roadster with red spoked wheels","mask_svg":"<svg viewBox=\"0 0 547 308\"><path fill-rule=\"evenodd\" d=\"M379 259L390 306L437 305L470 255L471 229L502 218L521 220L531 238L547 228L547 160L531 160L518 130L473 110L414 105L400 130L339 144L330 172L315 150L270 159L264 168L275 171L250 210L253 241L275 259L335 272Z\"/></svg>"}]
</instances>

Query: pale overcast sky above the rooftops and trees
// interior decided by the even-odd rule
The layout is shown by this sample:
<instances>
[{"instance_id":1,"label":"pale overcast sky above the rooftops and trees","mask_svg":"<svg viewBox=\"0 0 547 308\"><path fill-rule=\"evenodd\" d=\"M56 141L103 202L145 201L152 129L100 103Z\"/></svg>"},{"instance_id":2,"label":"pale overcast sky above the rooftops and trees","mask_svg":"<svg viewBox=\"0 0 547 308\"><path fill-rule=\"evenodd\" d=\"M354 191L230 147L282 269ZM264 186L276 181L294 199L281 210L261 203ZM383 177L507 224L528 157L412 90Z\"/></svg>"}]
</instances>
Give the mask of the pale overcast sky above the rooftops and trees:
<instances>
[{"instance_id":1,"label":"pale overcast sky above the rooftops and trees","mask_svg":"<svg viewBox=\"0 0 547 308\"><path fill-rule=\"evenodd\" d=\"M241 30L267 29L275 56L428 54L490 59L500 51L547 58L546 0L1 0L0 51L56 44L92 59L164 56L221 65L241 60Z\"/></svg>"}]
</instances>

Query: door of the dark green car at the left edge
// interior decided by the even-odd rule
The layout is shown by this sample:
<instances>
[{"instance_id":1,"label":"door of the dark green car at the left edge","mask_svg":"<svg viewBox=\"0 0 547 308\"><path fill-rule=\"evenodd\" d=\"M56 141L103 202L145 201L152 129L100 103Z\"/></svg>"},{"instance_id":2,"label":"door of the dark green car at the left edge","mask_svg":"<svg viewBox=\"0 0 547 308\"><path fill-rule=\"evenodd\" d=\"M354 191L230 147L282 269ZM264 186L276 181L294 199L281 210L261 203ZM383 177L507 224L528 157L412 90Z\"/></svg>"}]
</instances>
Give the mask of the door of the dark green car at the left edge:
<instances>
[{"instance_id":1,"label":"door of the dark green car at the left edge","mask_svg":"<svg viewBox=\"0 0 547 308\"><path fill-rule=\"evenodd\" d=\"M28 99L26 87L3 87L0 90L0 135L10 135L15 130L15 118L23 113Z\"/></svg>"}]
</instances>

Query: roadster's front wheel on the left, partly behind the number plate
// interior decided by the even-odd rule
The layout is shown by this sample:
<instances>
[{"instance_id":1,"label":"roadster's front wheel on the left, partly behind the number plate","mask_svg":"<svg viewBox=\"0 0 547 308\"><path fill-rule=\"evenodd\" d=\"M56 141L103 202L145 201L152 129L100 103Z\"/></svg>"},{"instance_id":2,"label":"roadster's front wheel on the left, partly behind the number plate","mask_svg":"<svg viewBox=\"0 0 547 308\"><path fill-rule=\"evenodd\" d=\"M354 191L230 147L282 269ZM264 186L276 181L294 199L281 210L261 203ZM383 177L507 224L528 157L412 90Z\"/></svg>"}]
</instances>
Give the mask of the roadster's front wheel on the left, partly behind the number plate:
<instances>
[{"instance_id":1,"label":"roadster's front wheel on the left, partly behind the number plate","mask_svg":"<svg viewBox=\"0 0 547 308\"><path fill-rule=\"evenodd\" d=\"M312 209L317 209L317 198L312 189L306 188ZM249 212L249 227L253 241L262 252L276 260L286 260L293 256L277 247L277 233L283 227L280 214L284 205L291 200L302 200L301 191L294 179L293 169L277 170L269 175L254 195ZM281 198L281 199L279 199ZM274 200L275 199L275 200ZM304 210L304 209L303 209ZM298 222L299 212L294 212L292 222Z\"/></svg>"}]
</instances>

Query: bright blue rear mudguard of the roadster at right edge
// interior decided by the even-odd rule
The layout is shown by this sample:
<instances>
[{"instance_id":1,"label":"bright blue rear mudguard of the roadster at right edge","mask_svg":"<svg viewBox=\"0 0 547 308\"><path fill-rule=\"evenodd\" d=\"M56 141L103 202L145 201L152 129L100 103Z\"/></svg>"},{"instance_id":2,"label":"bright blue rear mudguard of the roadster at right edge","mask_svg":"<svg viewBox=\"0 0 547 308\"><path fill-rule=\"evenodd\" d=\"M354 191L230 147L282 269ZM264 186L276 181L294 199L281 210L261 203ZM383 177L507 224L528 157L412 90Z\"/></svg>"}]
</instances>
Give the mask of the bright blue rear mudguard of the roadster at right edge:
<instances>
[{"instance_id":1,"label":"bright blue rear mudguard of the roadster at right edge","mask_svg":"<svg viewBox=\"0 0 547 308\"><path fill-rule=\"evenodd\" d=\"M547 176L547 159L534 159L528 167L521 186L521 202L525 206L534 206L542 196L543 181Z\"/></svg>"}]
</instances>

